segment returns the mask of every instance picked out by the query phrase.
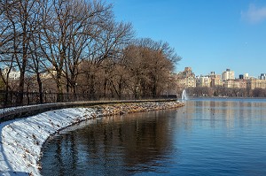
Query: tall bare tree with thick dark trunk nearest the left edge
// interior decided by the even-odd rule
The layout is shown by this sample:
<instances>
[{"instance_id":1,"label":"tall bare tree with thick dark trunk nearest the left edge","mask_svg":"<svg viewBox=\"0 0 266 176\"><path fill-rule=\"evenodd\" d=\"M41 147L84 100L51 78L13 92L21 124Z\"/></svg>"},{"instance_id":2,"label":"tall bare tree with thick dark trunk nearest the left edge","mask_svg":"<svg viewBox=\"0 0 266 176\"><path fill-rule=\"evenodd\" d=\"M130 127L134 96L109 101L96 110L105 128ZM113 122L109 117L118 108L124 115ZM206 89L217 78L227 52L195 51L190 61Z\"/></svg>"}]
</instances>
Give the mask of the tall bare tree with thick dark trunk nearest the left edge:
<instances>
[{"instance_id":1,"label":"tall bare tree with thick dark trunk nearest the left edge","mask_svg":"<svg viewBox=\"0 0 266 176\"><path fill-rule=\"evenodd\" d=\"M27 56L29 54L28 45L32 37L31 28L35 24L35 5L35 0L1 2L1 16L4 17L1 46L4 45L4 54L12 55L12 61L16 62L14 66L20 70L18 104L23 101Z\"/></svg>"}]
</instances>

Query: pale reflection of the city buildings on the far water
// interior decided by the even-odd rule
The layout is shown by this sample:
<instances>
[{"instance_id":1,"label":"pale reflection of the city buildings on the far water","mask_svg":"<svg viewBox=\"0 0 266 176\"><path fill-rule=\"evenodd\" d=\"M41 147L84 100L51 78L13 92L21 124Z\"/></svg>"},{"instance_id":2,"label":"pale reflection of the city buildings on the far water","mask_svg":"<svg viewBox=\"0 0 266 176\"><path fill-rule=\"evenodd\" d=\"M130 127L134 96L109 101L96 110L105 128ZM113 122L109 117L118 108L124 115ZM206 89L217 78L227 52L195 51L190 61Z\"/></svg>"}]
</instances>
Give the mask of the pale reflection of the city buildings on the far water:
<instances>
[{"instance_id":1,"label":"pale reflection of the city buildings on the far water","mask_svg":"<svg viewBox=\"0 0 266 176\"><path fill-rule=\"evenodd\" d=\"M194 99L184 107L185 119L209 120L211 127L251 126L254 121L264 121L266 100L263 99ZM196 114L196 115L195 115ZM222 120L222 121L221 121ZM237 123L237 124L235 124Z\"/></svg>"}]
</instances>

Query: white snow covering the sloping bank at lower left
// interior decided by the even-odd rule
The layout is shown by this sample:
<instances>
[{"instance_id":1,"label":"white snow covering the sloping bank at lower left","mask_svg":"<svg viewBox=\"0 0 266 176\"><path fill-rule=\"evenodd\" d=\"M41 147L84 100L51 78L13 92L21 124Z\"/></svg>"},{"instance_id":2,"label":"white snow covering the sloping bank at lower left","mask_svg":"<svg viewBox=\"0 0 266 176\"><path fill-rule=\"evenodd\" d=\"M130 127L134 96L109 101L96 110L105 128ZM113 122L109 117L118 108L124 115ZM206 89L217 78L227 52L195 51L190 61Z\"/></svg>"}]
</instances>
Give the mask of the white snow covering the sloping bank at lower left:
<instances>
[{"instance_id":1,"label":"white snow covering the sloping bank at lower left","mask_svg":"<svg viewBox=\"0 0 266 176\"><path fill-rule=\"evenodd\" d=\"M41 175L37 161L43 142L66 126L98 115L92 108L69 108L1 123L0 174Z\"/></svg>"}]
</instances>

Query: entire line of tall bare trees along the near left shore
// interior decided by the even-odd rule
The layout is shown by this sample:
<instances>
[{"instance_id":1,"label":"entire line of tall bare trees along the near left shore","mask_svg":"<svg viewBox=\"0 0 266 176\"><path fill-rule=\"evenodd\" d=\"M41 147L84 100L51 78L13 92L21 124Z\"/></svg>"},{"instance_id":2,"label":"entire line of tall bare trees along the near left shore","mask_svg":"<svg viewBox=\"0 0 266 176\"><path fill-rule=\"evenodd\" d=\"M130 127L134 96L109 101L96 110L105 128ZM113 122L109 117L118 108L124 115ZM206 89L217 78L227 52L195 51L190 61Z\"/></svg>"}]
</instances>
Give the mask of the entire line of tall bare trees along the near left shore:
<instances>
[{"instance_id":1,"label":"entire line of tall bare trees along the near left shore","mask_svg":"<svg viewBox=\"0 0 266 176\"><path fill-rule=\"evenodd\" d=\"M0 85L5 92L158 96L180 60L168 42L135 39L100 0L0 1ZM3 73L4 66L8 72ZM10 80L12 69L20 79Z\"/></svg>"}]
</instances>

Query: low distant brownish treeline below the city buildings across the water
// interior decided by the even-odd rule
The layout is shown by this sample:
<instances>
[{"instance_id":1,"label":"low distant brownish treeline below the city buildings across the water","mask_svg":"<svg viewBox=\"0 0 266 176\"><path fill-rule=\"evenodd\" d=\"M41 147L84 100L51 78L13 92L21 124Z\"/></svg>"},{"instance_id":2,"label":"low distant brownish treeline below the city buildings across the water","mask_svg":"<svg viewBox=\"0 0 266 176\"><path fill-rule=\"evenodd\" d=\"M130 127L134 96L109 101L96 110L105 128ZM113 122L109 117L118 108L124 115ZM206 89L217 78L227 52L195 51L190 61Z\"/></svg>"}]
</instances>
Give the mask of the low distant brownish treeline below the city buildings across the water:
<instances>
[{"instance_id":1,"label":"low distant brownish treeline below the city buildings across the water","mask_svg":"<svg viewBox=\"0 0 266 176\"><path fill-rule=\"evenodd\" d=\"M197 87L187 88L186 92L189 96L266 97L266 89L262 88L248 90L246 88L223 88L223 86Z\"/></svg>"}]
</instances>

